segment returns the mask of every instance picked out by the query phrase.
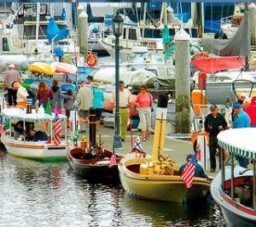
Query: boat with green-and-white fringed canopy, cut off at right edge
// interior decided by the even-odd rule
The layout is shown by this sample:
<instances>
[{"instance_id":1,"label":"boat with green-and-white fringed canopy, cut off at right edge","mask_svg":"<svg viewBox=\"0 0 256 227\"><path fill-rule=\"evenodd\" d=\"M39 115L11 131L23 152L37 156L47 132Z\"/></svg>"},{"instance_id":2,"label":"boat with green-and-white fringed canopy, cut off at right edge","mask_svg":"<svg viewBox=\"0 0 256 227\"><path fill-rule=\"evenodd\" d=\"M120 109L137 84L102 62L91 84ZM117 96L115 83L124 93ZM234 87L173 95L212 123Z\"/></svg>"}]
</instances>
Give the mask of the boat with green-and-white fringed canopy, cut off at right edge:
<instances>
[{"instance_id":1,"label":"boat with green-and-white fringed canopy, cut off at right edge","mask_svg":"<svg viewBox=\"0 0 256 227\"><path fill-rule=\"evenodd\" d=\"M256 226L255 133L256 128L237 128L218 134L218 143L230 153L231 164L222 165L212 181L211 193L229 226ZM234 156L250 158L253 171L235 167Z\"/></svg>"}]
</instances>

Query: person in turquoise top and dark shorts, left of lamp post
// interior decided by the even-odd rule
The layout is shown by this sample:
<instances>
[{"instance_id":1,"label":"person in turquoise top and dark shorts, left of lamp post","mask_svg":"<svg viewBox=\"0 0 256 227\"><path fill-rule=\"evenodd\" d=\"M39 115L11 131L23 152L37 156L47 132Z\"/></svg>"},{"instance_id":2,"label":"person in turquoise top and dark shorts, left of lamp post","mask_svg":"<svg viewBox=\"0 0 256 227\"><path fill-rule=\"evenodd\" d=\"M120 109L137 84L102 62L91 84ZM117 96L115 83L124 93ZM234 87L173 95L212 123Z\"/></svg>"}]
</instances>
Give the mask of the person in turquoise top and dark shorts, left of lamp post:
<instances>
[{"instance_id":1,"label":"person in turquoise top and dark shorts, left of lamp post","mask_svg":"<svg viewBox=\"0 0 256 227\"><path fill-rule=\"evenodd\" d=\"M104 94L101 89L98 88L97 82L91 83L93 88L93 103L92 106L96 108L96 129L100 129L100 122L102 118L102 109L103 109L103 101Z\"/></svg>"}]
</instances>

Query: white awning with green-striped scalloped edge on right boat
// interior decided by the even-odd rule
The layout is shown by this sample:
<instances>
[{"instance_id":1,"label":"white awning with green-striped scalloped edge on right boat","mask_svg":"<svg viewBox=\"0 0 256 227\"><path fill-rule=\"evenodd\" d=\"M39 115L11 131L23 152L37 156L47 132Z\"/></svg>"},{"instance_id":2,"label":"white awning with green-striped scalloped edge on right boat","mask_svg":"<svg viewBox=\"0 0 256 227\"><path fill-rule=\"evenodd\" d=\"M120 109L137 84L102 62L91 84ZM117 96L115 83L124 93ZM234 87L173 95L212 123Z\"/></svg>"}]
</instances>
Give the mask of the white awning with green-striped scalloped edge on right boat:
<instances>
[{"instance_id":1,"label":"white awning with green-striped scalloped edge on right boat","mask_svg":"<svg viewBox=\"0 0 256 227\"><path fill-rule=\"evenodd\" d=\"M236 128L218 133L218 145L237 156L256 160L256 128Z\"/></svg>"}]
</instances>

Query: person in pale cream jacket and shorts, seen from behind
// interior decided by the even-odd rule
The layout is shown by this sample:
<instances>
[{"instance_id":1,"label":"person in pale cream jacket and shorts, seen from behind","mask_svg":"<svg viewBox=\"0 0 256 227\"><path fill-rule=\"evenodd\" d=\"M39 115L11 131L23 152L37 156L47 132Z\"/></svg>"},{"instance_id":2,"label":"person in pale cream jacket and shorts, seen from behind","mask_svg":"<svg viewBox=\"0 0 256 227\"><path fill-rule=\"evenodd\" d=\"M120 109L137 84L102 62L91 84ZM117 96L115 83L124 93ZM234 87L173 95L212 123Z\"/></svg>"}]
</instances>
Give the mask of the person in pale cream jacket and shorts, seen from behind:
<instances>
[{"instance_id":1,"label":"person in pale cream jacket and shorts, seen from behind","mask_svg":"<svg viewBox=\"0 0 256 227\"><path fill-rule=\"evenodd\" d=\"M81 128L79 133L86 133L84 119L88 120L89 109L92 106L92 100L93 100L93 93L91 88L84 86L83 88L79 89L78 107L79 107L79 118L80 118L79 122L80 122L80 128Z\"/></svg>"}]
</instances>

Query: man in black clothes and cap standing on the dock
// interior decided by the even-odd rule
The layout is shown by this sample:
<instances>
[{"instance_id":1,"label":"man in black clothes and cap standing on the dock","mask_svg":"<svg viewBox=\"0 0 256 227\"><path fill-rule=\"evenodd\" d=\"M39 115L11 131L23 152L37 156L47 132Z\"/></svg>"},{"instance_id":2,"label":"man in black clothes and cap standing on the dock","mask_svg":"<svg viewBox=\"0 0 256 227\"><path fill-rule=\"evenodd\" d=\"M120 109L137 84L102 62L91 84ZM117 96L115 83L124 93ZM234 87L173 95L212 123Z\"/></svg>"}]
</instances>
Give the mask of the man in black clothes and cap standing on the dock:
<instances>
[{"instance_id":1,"label":"man in black clothes and cap standing on the dock","mask_svg":"<svg viewBox=\"0 0 256 227\"><path fill-rule=\"evenodd\" d=\"M215 172L216 169L216 153L218 149L218 161L220 168L220 151L221 148L218 145L217 135L221 130L228 127L228 124L222 114L218 112L217 105L211 105L211 113L209 113L204 122L205 131L209 134L209 151L210 151L210 162L211 162L211 173Z\"/></svg>"}]
</instances>

